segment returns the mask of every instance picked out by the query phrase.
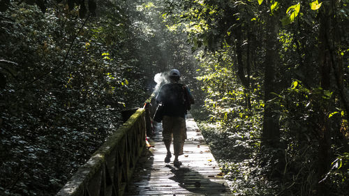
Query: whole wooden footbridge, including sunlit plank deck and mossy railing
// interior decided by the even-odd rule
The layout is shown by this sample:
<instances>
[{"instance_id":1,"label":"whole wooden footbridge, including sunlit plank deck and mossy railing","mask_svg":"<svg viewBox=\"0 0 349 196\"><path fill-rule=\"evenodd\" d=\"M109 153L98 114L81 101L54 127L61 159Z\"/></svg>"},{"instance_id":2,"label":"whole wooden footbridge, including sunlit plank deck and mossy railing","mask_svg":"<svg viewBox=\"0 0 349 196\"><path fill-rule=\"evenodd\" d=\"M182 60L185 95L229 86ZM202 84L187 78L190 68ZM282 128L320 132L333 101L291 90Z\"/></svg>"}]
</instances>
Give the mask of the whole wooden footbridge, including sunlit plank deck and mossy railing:
<instances>
[{"instance_id":1,"label":"whole wooden footbridge, including sunlit plank deck and mossy railing","mask_svg":"<svg viewBox=\"0 0 349 196\"><path fill-rule=\"evenodd\" d=\"M231 195L190 114L184 155L179 157L183 165L177 168L163 161L162 126L151 121L155 108L153 95L77 169L57 196ZM153 135L149 144L147 135Z\"/></svg>"}]
</instances>

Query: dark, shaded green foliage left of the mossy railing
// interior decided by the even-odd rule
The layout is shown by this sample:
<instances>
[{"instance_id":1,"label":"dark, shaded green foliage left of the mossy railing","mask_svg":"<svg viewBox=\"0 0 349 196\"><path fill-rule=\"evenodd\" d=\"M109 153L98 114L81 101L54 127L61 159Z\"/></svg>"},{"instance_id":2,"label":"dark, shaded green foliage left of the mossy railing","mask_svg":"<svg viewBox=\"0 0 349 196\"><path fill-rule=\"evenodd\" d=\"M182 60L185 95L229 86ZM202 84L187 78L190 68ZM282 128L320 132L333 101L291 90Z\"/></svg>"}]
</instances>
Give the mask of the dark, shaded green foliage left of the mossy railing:
<instances>
[{"instance_id":1,"label":"dark, shaded green foliage left of the mossy railing","mask_svg":"<svg viewBox=\"0 0 349 196\"><path fill-rule=\"evenodd\" d=\"M0 195L54 195L149 96L160 57L143 54L143 13L99 2L83 20L76 4L1 12Z\"/></svg>"}]
</instances>

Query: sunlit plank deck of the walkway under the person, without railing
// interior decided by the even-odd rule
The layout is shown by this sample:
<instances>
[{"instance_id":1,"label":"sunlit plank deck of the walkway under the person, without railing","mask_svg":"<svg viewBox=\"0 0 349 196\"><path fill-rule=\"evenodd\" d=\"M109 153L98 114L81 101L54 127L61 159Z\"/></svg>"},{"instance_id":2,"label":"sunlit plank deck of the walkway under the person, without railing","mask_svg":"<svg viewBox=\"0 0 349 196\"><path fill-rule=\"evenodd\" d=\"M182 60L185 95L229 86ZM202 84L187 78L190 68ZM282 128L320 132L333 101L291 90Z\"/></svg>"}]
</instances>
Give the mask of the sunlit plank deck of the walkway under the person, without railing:
<instances>
[{"instance_id":1,"label":"sunlit plank deck of the walkway under the person, without railing","mask_svg":"<svg viewBox=\"0 0 349 196\"><path fill-rule=\"evenodd\" d=\"M132 182L125 195L232 195L216 160L205 144L198 126L188 115L187 140L184 155L179 156L181 167L165 163L165 145L162 141L162 125L155 127L156 136L149 141L151 148L144 150L138 160ZM173 145L171 145L173 153Z\"/></svg>"}]
</instances>

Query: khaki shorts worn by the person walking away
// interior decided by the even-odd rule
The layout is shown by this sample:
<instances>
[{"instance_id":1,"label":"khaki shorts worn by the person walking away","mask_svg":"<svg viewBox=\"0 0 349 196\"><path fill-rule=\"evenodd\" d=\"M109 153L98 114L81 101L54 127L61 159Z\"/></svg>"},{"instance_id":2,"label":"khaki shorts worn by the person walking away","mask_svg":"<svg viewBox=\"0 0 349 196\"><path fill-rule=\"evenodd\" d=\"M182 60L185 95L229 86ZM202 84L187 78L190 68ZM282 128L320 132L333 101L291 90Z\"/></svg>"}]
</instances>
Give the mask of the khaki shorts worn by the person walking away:
<instances>
[{"instance_id":1,"label":"khaki shorts worn by the person walking away","mask_svg":"<svg viewBox=\"0 0 349 196\"><path fill-rule=\"evenodd\" d=\"M186 119L163 116L163 141L172 141L172 138L174 155L182 155L186 140Z\"/></svg>"}]
</instances>

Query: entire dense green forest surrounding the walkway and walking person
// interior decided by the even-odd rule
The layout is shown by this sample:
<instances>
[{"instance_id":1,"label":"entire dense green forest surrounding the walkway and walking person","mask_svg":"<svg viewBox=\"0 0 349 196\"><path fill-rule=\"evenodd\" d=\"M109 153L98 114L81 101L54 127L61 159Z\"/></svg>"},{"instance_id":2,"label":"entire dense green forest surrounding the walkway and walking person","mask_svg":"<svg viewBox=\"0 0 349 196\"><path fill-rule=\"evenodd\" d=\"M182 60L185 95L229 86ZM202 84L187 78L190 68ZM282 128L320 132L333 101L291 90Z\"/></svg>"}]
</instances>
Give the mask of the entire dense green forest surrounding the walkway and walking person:
<instances>
[{"instance_id":1,"label":"entire dense green forest surrounding the walkway and walking person","mask_svg":"<svg viewBox=\"0 0 349 196\"><path fill-rule=\"evenodd\" d=\"M348 5L1 0L0 195L55 195L172 68L233 195L349 195Z\"/></svg>"}]
</instances>

